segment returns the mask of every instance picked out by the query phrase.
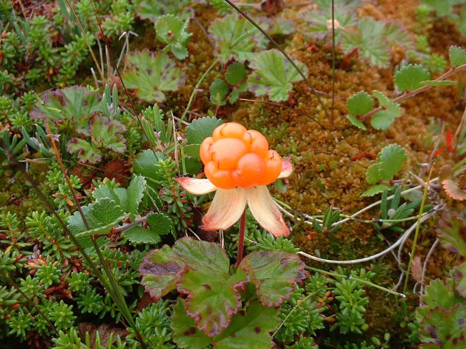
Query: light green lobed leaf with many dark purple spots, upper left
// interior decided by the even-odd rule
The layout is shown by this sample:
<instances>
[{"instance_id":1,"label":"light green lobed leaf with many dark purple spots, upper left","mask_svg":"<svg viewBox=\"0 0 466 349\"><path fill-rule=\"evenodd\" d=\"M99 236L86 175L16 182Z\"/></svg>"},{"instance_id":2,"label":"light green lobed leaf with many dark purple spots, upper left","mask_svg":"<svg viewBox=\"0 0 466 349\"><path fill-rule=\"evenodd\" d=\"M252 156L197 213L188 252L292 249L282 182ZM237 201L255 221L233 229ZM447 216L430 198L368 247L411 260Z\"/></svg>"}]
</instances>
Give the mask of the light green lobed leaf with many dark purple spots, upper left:
<instances>
[{"instance_id":1,"label":"light green lobed leaf with many dark purple spots, upper left","mask_svg":"<svg viewBox=\"0 0 466 349\"><path fill-rule=\"evenodd\" d=\"M128 68L122 75L126 87L137 89L137 97L147 102L162 102L166 91L178 91L185 74L167 54L147 49L126 55Z\"/></svg>"}]
</instances>

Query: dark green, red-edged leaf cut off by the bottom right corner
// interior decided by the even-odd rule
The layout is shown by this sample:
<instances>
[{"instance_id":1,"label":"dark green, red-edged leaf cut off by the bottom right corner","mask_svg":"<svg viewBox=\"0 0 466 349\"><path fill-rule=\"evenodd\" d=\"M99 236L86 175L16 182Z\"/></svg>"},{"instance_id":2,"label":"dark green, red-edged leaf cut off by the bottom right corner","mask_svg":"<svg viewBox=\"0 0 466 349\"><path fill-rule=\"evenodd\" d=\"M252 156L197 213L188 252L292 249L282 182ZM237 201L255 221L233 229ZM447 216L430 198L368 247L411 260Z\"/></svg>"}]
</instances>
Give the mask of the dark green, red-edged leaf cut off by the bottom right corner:
<instances>
[{"instance_id":1,"label":"dark green, red-edged leaf cut off by the bottom right corner","mask_svg":"<svg viewBox=\"0 0 466 349\"><path fill-rule=\"evenodd\" d=\"M433 308L424 318L419 339L426 349L464 349L466 348L466 307L456 304L445 310Z\"/></svg>"}]
</instances>

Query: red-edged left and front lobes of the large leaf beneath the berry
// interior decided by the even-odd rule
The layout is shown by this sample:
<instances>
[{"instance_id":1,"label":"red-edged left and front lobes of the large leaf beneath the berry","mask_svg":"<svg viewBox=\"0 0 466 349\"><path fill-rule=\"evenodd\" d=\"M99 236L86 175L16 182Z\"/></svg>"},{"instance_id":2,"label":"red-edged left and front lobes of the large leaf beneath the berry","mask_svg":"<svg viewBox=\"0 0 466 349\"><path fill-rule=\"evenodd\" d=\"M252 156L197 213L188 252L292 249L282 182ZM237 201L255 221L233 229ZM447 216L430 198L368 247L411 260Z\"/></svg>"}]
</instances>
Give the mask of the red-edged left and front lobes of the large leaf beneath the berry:
<instances>
[{"instance_id":1,"label":"red-edged left and front lobes of the large leaf beneath the berry","mask_svg":"<svg viewBox=\"0 0 466 349\"><path fill-rule=\"evenodd\" d=\"M208 335L219 334L240 308L239 289L247 282L244 273L229 275L224 250L211 242L178 239L172 248L151 251L139 266L142 284L159 298L177 288L186 298L186 311Z\"/></svg>"}]
</instances>

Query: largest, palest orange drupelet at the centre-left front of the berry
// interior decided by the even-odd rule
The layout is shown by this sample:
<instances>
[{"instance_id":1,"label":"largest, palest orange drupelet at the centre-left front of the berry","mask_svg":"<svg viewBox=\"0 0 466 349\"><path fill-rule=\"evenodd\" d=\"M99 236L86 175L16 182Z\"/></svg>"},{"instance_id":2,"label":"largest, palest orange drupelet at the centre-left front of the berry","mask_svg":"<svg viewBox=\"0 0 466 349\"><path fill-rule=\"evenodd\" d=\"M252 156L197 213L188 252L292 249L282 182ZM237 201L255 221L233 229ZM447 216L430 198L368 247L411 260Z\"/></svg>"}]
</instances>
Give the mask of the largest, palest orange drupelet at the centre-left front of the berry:
<instances>
[{"instance_id":1,"label":"largest, palest orange drupelet at the centre-left front of the berry","mask_svg":"<svg viewBox=\"0 0 466 349\"><path fill-rule=\"evenodd\" d=\"M211 160L219 169L233 169L240 157L247 153L246 145L236 138L222 138L210 147Z\"/></svg>"}]
</instances>

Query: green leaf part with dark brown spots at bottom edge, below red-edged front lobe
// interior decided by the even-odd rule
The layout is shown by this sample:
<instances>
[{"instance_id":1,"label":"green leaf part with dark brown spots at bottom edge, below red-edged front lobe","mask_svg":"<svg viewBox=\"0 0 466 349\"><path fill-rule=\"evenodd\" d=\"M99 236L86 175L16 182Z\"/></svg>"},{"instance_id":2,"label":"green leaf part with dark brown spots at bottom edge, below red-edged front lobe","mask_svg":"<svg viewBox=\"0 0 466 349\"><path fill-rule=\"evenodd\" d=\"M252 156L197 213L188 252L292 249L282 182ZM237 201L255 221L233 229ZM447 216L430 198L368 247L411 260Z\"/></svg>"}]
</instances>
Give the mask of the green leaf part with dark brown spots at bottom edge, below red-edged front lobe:
<instances>
[{"instance_id":1,"label":"green leaf part with dark brown spots at bottom edge, below red-edged front lobe","mask_svg":"<svg viewBox=\"0 0 466 349\"><path fill-rule=\"evenodd\" d=\"M199 330L194 319L186 314L185 302L181 298L173 307L171 329L178 348L204 349L211 343L210 337Z\"/></svg>"}]
</instances>

